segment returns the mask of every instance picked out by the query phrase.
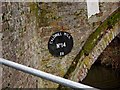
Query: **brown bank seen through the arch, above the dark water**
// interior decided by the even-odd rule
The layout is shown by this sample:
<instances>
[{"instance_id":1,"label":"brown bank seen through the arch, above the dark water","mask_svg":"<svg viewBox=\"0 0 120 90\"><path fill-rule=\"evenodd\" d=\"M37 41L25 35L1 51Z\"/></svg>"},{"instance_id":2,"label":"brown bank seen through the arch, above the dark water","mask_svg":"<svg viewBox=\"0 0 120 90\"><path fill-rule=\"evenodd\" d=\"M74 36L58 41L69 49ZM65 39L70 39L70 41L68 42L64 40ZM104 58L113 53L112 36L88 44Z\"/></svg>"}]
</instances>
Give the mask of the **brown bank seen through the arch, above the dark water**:
<instances>
[{"instance_id":1,"label":"brown bank seen through the arch, above the dark water","mask_svg":"<svg viewBox=\"0 0 120 90\"><path fill-rule=\"evenodd\" d=\"M110 67L120 72L120 33L105 48L94 64Z\"/></svg>"}]
</instances>

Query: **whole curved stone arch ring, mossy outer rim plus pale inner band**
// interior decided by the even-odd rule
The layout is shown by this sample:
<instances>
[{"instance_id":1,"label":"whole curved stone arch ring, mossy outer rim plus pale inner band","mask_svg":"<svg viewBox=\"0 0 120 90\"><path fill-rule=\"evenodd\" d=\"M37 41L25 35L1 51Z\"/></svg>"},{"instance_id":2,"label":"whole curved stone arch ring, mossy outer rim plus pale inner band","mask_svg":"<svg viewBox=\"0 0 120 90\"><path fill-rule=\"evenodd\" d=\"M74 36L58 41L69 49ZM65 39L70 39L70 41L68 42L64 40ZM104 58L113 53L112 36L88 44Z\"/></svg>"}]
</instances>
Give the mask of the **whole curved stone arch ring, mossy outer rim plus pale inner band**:
<instances>
[{"instance_id":1,"label":"whole curved stone arch ring, mossy outer rim plus pale inner band","mask_svg":"<svg viewBox=\"0 0 120 90\"><path fill-rule=\"evenodd\" d=\"M105 48L120 36L119 8L93 32L79 54L73 60L64 78L79 82L86 76L91 66Z\"/></svg>"}]
</instances>

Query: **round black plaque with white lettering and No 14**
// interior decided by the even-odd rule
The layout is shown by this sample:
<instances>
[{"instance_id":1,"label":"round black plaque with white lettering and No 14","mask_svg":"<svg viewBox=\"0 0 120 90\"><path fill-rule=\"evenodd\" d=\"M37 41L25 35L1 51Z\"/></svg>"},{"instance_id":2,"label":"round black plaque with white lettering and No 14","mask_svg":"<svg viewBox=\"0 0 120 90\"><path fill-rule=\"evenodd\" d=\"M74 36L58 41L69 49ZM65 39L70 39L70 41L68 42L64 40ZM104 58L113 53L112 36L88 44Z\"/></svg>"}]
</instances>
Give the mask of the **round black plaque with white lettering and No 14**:
<instances>
[{"instance_id":1,"label":"round black plaque with white lettering and No 14","mask_svg":"<svg viewBox=\"0 0 120 90\"><path fill-rule=\"evenodd\" d=\"M71 52L73 38L68 32L59 31L54 33L48 42L49 52L53 56L65 56Z\"/></svg>"}]
</instances>

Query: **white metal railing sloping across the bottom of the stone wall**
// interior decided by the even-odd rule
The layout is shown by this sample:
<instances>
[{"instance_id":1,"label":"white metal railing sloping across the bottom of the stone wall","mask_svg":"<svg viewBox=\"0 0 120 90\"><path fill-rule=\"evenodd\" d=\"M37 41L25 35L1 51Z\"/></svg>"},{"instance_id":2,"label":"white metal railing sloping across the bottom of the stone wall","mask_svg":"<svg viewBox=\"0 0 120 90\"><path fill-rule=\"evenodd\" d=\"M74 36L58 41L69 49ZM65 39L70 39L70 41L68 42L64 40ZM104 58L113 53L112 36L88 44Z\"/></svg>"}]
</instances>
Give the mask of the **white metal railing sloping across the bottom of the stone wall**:
<instances>
[{"instance_id":1,"label":"white metal railing sloping across the bottom of the stone wall","mask_svg":"<svg viewBox=\"0 0 120 90\"><path fill-rule=\"evenodd\" d=\"M84 85L84 84L80 84L80 83L77 83L77 82L74 82L74 81L71 81L71 80L68 80L68 79L64 79L62 77L55 76L55 75L52 75L52 74L49 74L49 73L31 68L31 67L27 67L25 65L21 65L21 64L3 59L3 58L0 58L0 64L12 67L14 69L23 71L25 73L29 73L29 74L38 76L38 77L46 79L46 80L50 80L50 81L58 83L58 84L62 84L64 86L67 86L67 87L70 87L70 88L80 88L80 89L89 88L89 89L97 90L94 87Z\"/></svg>"}]
</instances>

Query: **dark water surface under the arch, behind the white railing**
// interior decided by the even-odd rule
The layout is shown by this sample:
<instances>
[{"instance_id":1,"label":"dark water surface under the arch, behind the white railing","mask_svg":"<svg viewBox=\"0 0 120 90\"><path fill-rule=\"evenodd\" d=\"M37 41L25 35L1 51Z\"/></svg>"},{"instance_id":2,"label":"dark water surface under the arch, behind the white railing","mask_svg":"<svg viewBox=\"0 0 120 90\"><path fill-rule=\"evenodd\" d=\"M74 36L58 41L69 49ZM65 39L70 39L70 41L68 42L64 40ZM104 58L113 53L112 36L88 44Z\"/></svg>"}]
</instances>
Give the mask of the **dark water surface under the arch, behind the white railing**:
<instances>
[{"instance_id":1,"label":"dark water surface under the arch, behind the white railing","mask_svg":"<svg viewBox=\"0 0 120 90\"><path fill-rule=\"evenodd\" d=\"M112 68L94 64L82 83L99 89L120 90L120 73Z\"/></svg>"}]
</instances>

